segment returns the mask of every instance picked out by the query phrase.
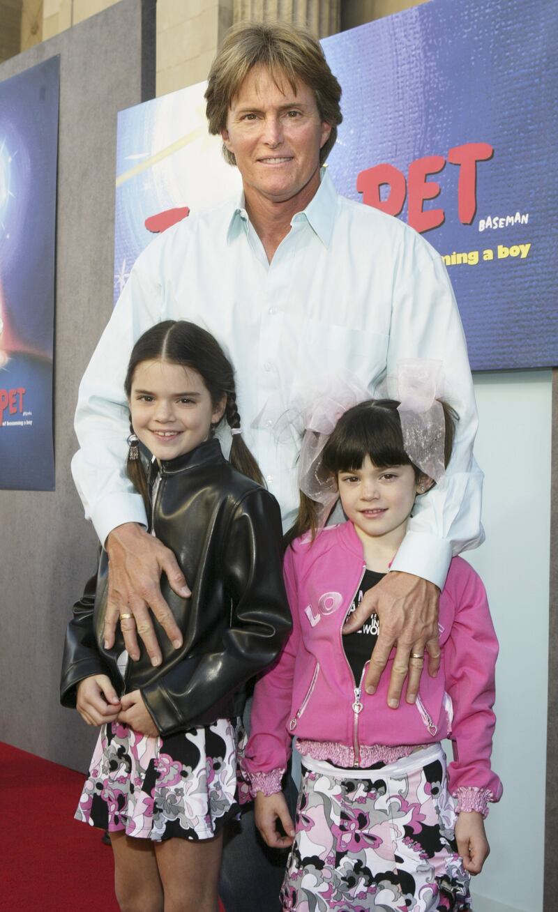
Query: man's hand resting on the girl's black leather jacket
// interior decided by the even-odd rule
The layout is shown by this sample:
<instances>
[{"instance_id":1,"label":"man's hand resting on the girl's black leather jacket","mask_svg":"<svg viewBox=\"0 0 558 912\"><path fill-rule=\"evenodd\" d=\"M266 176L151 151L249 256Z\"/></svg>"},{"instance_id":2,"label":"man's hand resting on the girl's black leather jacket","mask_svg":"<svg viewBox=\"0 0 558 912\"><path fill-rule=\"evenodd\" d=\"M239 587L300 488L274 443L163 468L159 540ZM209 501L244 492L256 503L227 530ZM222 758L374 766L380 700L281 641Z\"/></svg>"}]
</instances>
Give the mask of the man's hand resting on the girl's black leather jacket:
<instances>
[{"instance_id":1,"label":"man's hand resting on the girl's black leather jacket","mask_svg":"<svg viewBox=\"0 0 558 912\"><path fill-rule=\"evenodd\" d=\"M114 634L120 615L120 627L130 658L140 658L137 633L145 644L151 665L160 665L161 654L150 610L169 637L172 645L182 645L181 631L160 592L160 575L167 575L177 596L191 595L181 568L171 550L148 534L137 523L124 523L107 538L109 554L109 600L103 637L105 648L114 646Z\"/></svg>"}]
</instances>

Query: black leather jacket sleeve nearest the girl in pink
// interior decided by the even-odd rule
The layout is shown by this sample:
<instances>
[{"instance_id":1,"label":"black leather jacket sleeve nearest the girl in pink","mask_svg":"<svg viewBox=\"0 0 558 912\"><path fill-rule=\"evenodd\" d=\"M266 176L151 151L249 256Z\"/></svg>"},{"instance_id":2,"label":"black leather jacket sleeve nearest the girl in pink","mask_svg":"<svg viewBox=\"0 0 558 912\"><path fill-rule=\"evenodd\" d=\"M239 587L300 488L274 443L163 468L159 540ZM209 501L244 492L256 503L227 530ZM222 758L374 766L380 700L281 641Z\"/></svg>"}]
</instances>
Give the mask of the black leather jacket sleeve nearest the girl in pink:
<instances>
[{"instance_id":1,"label":"black leather jacket sleeve nearest the girl in pink","mask_svg":"<svg viewBox=\"0 0 558 912\"><path fill-rule=\"evenodd\" d=\"M291 629L282 574L281 514L263 489L236 503L222 544L230 621L221 647L185 658L141 695L161 734L230 714L233 695L276 658Z\"/></svg>"}]
</instances>

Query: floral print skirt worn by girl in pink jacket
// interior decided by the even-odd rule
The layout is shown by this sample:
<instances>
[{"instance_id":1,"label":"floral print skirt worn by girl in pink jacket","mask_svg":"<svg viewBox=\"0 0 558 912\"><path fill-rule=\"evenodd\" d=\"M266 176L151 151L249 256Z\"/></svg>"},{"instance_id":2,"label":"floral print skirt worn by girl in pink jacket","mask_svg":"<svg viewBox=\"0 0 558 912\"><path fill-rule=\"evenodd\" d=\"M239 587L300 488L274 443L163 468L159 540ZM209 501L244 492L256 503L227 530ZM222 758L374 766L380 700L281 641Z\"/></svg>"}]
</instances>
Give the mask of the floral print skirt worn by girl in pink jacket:
<instances>
[{"instance_id":1,"label":"floral print skirt worn by girl in pink jacket","mask_svg":"<svg viewBox=\"0 0 558 912\"><path fill-rule=\"evenodd\" d=\"M306 760L315 769L298 798L284 912L470 909L439 745L355 778Z\"/></svg>"}]
</instances>

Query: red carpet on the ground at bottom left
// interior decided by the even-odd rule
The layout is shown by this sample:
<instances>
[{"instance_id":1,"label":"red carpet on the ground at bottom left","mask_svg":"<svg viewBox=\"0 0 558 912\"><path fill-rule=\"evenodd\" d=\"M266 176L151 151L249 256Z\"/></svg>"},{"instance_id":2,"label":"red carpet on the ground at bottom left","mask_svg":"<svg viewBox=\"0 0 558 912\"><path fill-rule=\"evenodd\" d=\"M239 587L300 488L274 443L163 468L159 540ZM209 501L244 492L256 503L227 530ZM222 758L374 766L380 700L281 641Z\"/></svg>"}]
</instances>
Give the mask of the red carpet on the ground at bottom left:
<instances>
[{"instance_id":1,"label":"red carpet on the ground at bottom left","mask_svg":"<svg viewBox=\"0 0 558 912\"><path fill-rule=\"evenodd\" d=\"M112 850L100 830L73 819L83 780L80 772L0 742L6 912L119 912Z\"/></svg>"}]
</instances>

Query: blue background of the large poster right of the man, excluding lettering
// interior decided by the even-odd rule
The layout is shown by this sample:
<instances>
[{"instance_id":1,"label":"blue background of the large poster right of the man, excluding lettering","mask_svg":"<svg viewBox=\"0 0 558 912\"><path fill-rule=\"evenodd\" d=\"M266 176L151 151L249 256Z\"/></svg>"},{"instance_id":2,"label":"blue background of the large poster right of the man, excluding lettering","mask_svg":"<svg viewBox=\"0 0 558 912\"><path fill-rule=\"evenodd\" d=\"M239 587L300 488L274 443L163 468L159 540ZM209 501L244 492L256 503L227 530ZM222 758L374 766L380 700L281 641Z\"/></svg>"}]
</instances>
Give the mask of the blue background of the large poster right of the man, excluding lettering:
<instances>
[{"instance_id":1,"label":"blue background of the large poster right of the man, excluding lettering","mask_svg":"<svg viewBox=\"0 0 558 912\"><path fill-rule=\"evenodd\" d=\"M477 370L558 364L557 36L552 0L431 0L322 42L343 88L328 160L339 192L360 200L358 173L381 162L407 176L411 161L464 143L494 149L477 165L472 223L458 218L455 165L429 178L440 193L424 203L445 212L424 233L440 254L480 254L448 267ZM480 231L480 219L517 212L528 223ZM531 244L524 259L498 258L519 244Z\"/></svg>"}]
</instances>

